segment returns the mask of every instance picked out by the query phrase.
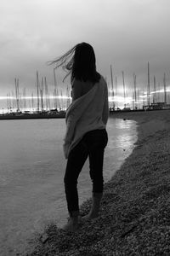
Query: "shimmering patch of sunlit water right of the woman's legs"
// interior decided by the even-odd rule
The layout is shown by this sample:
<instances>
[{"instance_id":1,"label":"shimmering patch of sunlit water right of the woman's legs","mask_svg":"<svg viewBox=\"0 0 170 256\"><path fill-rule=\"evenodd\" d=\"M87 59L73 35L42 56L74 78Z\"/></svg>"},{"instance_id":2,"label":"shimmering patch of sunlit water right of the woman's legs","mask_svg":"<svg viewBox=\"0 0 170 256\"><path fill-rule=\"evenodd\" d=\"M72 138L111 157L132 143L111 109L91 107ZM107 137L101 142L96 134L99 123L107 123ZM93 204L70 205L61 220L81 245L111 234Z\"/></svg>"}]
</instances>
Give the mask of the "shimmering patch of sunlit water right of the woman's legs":
<instances>
[{"instance_id":1,"label":"shimmering patch of sunlit water right of the woman's legs","mask_svg":"<svg viewBox=\"0 0 170 256\"><path fill-rule=\"evenodd\" d=\"M132 153L137 141L136 122L133 120L109 119L107 131L109 142L105 149L105 182L111 179L123 160Z\"/></svg>"}]
</instances>

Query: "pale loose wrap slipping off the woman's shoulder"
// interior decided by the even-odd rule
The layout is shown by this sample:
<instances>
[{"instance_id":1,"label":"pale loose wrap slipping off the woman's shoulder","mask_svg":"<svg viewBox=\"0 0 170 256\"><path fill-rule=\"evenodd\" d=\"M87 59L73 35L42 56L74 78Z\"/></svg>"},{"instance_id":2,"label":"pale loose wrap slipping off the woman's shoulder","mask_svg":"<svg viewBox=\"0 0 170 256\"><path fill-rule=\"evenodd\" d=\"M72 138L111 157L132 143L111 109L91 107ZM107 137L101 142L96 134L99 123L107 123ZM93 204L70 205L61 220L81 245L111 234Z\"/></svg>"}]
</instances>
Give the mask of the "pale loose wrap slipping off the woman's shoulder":
<instances>
[{"instance_id":1,"label":"pale loose wrap slipping off the woman's shoulder","mask_svg":"<svg viewBox=\"0 0 170 256\"><path fill-rule=\"evenodd\" d=\"M82 139L88 131L105 129L108 119L108 91L105 79L101 77L99 83L87 94L72 102L66 110L66 132L64 138L65 158L71 149Z\"/></svg>"}]
</instances>

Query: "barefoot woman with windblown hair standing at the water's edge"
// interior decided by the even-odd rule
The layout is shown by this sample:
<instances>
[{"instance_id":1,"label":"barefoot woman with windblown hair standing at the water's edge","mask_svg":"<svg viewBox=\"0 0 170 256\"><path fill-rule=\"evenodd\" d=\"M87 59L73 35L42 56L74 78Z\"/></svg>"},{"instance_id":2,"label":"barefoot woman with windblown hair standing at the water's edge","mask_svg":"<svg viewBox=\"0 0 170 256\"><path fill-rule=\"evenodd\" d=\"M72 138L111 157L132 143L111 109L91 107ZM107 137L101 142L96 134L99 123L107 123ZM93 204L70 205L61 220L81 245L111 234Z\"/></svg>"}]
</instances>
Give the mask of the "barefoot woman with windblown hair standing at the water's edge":
<instances>
[{"instance_id":1,"label":"barefoot woman with windblown hair standing at the water's edge","mask_svg":"<svg viewBox=\"0 0 170 256\"><path fill-rule=\"evenodd\" d=\"M67 159L65 195L70 218L63 229L69 231L78 227L77 179L87 159L93 183L93 205L86 219L98 216L103 193L103 160L108 141L105 130L109 113L108 91L105 79L96 71L95 62L94 49L87 43L77 44L53 61L56 67L62 66L71 74L72 103L66 111L64 143Z\"/></svg>"}]
</instances>

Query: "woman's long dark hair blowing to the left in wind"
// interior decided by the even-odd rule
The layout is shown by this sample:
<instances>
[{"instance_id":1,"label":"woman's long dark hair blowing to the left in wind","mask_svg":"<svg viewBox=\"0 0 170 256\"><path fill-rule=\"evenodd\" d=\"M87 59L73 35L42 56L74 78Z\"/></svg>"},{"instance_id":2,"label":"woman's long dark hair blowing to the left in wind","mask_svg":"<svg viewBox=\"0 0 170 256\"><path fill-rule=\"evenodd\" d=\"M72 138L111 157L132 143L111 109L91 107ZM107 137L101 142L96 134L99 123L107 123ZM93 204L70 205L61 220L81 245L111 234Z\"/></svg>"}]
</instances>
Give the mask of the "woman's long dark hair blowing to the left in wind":
<instances>
[{"instance_id":1,"label":"woman's long dark hair blowing to the left in wind","mask_svg":"<svg viewBox=\"0 0 170 256\"><path fill-rule=\"evenodd\" d=\"M67 72L65 78L71 74L71 81L78 79L82 81L99 82L100 74L96 71L96 59L94 49L90 44L77 44L65 55L61 55L58 59L50 61L55 68L63 67ZM64 80L65 80L64 78Z\"/></svg>"}]
</instances>

